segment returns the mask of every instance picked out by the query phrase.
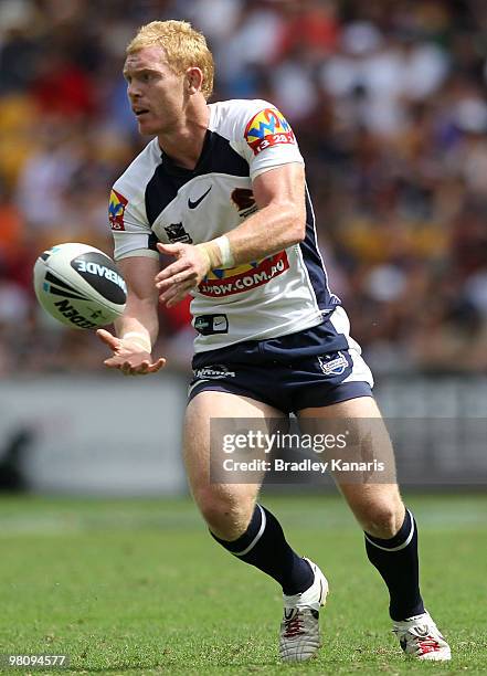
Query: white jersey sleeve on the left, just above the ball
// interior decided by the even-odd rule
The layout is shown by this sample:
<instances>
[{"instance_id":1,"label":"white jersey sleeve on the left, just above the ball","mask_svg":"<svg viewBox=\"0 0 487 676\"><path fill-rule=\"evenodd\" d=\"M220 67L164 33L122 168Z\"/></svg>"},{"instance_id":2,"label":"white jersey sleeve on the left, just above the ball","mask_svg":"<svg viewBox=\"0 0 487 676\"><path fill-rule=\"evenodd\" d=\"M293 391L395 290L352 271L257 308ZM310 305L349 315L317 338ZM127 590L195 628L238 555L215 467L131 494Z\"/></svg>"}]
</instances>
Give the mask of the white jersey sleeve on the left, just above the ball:
<instances>
[{"instance_id":1,"label":"white jersey sleeve on the left, just above the ball","mask_svg":"<svg viewBox=\"0 0 487 676\"><path fill-rule=\"evenodd\" d=\"M157 239L141 205L130 201L114 187L108 205L108 220L114 235L114 258L129 256L158 257Z\"/></svg>"}]
</instances>

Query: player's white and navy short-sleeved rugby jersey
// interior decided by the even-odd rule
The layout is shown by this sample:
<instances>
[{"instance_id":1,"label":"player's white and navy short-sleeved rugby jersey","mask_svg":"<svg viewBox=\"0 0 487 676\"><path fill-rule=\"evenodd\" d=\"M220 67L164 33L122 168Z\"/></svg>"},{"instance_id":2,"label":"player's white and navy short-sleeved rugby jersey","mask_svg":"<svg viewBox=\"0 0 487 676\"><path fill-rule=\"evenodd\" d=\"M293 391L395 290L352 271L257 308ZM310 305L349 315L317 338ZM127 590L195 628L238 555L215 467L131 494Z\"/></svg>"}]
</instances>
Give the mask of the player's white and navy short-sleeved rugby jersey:
<instances>
[{"instance_id":1,"label":"player's white and navy short-sleeved rugby jersey","mask_svg":"<svg viewBox=\"0 0 487 676\"><path fill-rule=\"evenodd\" d=\"M280 165L304 163L289 124L268 102L226 101L209 109L193 170L176 166L155 138L114 184L115 260L158 256L157 242L199 244L231 232L257 210L255 177ZM328 288L308 192L304 242L245 265L213 270L192 296L197 352L320 324L339 299Z\"/></svg>"}]
</instances>

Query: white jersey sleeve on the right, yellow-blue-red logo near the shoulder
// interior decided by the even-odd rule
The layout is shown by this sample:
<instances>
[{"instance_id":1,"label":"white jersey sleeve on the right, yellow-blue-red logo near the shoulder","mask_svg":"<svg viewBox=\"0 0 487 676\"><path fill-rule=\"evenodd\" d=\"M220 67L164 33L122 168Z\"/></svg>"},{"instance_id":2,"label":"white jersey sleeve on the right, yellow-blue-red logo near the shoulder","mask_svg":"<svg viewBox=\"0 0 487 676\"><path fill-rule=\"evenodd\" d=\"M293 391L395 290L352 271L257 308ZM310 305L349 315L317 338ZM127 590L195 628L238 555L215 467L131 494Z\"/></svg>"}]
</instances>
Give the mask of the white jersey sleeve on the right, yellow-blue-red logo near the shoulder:
<instances>
[{"instance_id":1,"label":"white jersey sleeve on the right, yellow-blue-red logo near the shoulder","mask_svg":"<svg viewBox=\"0 0 487 676\"><path fill-rule=\"evenodd\" d=\"M265 105L263 102L257 112L248 115L244 129L251 179L280 165L304 165L289 123L277 108Z\"/></svg>"}]
</instances>

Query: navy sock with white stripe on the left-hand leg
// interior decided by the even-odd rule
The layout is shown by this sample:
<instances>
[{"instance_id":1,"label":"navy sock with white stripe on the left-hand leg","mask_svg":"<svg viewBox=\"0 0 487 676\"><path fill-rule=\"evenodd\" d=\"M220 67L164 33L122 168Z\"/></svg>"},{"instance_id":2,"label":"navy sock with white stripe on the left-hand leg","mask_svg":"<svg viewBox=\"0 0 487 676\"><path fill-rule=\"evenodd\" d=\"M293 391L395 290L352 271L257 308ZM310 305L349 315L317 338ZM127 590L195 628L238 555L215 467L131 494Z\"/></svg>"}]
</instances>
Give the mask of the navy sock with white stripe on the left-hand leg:
<instances>
[{"instance_id":1,"label":"navy sock with white stripe on the left-hand leg","mask_svg":"<svg viewBox=\"0 0 487 676\"><path fill-rule=\"evenodd\" d=\"M236 540L229 542L211 535L235 557L274 578L285 594L311 587L311 567L289 547L279 521L265 507L255 506L248 528Z\"/></svg>"}]
</instances>

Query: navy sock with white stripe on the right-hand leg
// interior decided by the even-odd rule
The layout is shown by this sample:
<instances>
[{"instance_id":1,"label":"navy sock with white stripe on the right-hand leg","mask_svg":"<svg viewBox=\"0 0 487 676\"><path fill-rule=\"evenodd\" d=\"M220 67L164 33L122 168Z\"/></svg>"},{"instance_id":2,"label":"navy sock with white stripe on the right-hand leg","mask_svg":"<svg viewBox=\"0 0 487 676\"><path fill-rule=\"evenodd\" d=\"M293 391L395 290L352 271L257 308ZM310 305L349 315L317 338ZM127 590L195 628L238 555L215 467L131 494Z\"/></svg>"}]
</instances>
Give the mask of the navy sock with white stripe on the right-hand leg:
<instances>
[{"instance_id":1,"label":"navy sock with white stripe on the right-hand leg","mask_svg":"<svg viewBox=\"0 0 487 676\"><path fill-rule=\"evenodd\" d=\"M369 561L375 566L389 589L389 614L400 621L424 613L420 593L420 566L417 561L417 527L406 509L399 532L388 540L366 532Z\"/></svg>"}]
</instances>

